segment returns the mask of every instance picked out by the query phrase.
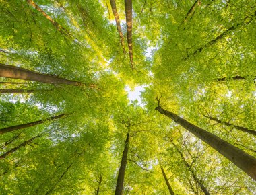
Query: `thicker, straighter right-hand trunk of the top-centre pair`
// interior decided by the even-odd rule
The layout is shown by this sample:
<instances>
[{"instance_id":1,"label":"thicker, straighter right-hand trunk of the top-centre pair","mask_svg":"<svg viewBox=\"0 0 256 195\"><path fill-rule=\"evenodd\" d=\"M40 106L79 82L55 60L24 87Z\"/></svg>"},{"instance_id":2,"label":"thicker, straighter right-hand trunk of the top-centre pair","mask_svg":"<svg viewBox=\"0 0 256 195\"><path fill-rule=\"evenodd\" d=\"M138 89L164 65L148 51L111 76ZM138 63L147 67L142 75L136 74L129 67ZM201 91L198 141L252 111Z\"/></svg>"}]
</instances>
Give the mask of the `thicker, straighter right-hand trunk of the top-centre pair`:
<instances>
[{"instance_id":1,"label":"thicker, straighter right-hand trunk of the top-centre pair","mask_svg":"<svg viewBox=\"0 0 256 195\"><path fill-rule=\"evenodd\" d=\"M125 16L126 16L127 42L128 42L128 48L129 48L131 69L134 69L134 67L133 67L133 43L132 43L132 27L133 27L132 0L125 0Z\"/></svg>"}]
</instances>

